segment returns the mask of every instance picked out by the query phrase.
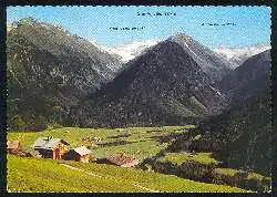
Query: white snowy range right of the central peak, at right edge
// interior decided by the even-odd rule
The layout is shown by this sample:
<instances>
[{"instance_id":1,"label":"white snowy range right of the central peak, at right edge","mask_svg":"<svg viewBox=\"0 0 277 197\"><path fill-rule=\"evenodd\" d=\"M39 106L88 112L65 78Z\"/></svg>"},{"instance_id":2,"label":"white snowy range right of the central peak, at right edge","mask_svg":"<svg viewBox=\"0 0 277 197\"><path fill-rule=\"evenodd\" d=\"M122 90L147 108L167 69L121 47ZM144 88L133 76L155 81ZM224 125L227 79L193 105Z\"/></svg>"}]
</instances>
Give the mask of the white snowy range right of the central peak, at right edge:
<instances>
[{"instance_id":1,"label":"white snowy range right of the central peak, at right edge","mask_svg":"<svg viewBox=\"0 0 277 197\"><path fill-rule=\"evenodd\" d=\"M214 49L214 51L220 54L227 61L229 61L233 68L235 69L242 65L244 61L248 58L269 49L270 45L257 44L254 46L246 48L218 48Z\"/></svg>"}]
</instances>

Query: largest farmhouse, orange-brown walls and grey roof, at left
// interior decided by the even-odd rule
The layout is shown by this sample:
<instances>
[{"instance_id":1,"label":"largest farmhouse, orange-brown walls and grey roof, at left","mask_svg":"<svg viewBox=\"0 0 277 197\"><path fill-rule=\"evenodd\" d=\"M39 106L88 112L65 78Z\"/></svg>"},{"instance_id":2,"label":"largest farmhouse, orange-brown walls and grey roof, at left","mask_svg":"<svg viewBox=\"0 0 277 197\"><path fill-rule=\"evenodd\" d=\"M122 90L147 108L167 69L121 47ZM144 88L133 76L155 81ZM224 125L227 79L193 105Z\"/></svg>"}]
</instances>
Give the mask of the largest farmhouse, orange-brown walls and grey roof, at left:
<instances>
[{"instance_id":1,"label":"largest farmhouse, orange-brown walls and grey roof, at left","mask_svg":"<svg viewBox=\"0 0 277 197\"><path fill-rule=\"evenodd\" d=\"M48 136L38 138L31 147L44 158L61 159L68 152L68 145L64 139Z\"/></svg>"}]
</instances>

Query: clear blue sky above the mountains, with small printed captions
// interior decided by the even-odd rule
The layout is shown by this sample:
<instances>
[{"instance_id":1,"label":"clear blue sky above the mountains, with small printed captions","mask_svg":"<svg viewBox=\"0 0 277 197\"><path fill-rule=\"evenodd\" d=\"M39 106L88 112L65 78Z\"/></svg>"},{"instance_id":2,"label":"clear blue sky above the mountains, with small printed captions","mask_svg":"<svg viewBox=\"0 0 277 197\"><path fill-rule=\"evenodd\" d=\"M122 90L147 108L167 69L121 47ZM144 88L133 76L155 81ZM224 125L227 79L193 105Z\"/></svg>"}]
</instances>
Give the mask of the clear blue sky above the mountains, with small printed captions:
<instances>
[{"instance_id":1,"label":"clear blue sky above the mountains, with small printed captions","mask_svg":"<svg viewBox=\"0 0 277 197\"><path fill-rule=\"evenodd\" d=\"M137 15L137 12L163 15ZM9 7L7 21L33 17L106 45L161 40L185 32L204 45L218 48L269 44L270 12L269 7ZM206 24L227 22L236 25ZM144 28L111 30L113 27Z\"/></svg>"}]
</instances>

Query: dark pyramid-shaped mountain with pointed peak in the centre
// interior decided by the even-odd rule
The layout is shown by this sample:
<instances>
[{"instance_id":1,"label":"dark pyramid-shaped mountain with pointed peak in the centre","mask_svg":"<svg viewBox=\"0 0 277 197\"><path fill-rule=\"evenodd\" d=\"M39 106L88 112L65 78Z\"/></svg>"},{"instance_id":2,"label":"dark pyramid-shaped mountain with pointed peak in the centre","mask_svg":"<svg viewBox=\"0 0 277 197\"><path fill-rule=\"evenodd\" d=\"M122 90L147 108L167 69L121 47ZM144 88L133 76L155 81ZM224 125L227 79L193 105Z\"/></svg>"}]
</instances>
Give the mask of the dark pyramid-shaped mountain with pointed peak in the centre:
<instances>
[{"instance_id":1,"label":"dark pyramid-shaped mountain with pointed peak in the centre","mask_svg":"<svg viewBox=\"0 0 277 197\"><path fill-rule=\"evenodd\" d=\"M113 82L80 102L81 126L185 124L217 112L225 97L213 84L229 72L213 51L185 34L130 61Z\"/></svg>"}]
</instances>

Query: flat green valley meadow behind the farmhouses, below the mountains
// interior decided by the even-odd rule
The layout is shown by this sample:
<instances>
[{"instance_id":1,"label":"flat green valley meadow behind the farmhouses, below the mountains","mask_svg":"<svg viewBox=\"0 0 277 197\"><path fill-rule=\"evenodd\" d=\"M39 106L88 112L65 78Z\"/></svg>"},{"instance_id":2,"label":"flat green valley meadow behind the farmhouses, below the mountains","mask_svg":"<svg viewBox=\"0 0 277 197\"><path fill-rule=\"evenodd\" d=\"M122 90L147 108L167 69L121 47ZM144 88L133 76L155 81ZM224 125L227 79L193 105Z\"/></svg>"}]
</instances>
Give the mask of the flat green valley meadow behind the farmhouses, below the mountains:
<instances>
[{"instance_id":1,"label":"flat green valley meadow behind the farmhouses, below the mountains","mask_svg":"<svg viewBox=\"0 0 277 197\"><path fill-rule=\"evenodd\" d=\"M8 138L20 141L23 148L31 151L31 145L38 137L53 136L64 138L70 143L70 147L82 144L92 149L92 154L98 158L106 157L115 153L135 154L138 159L153 157L162 149L165 149L174 139L174 136L185 135L187 126L163 126L163 127L131 127L131 128L79 128L63 127L57 129L45 129L43 132L11 132ZM84 143L84 137L101 137L100 143Z\"/></svg>"}]
</instances>

